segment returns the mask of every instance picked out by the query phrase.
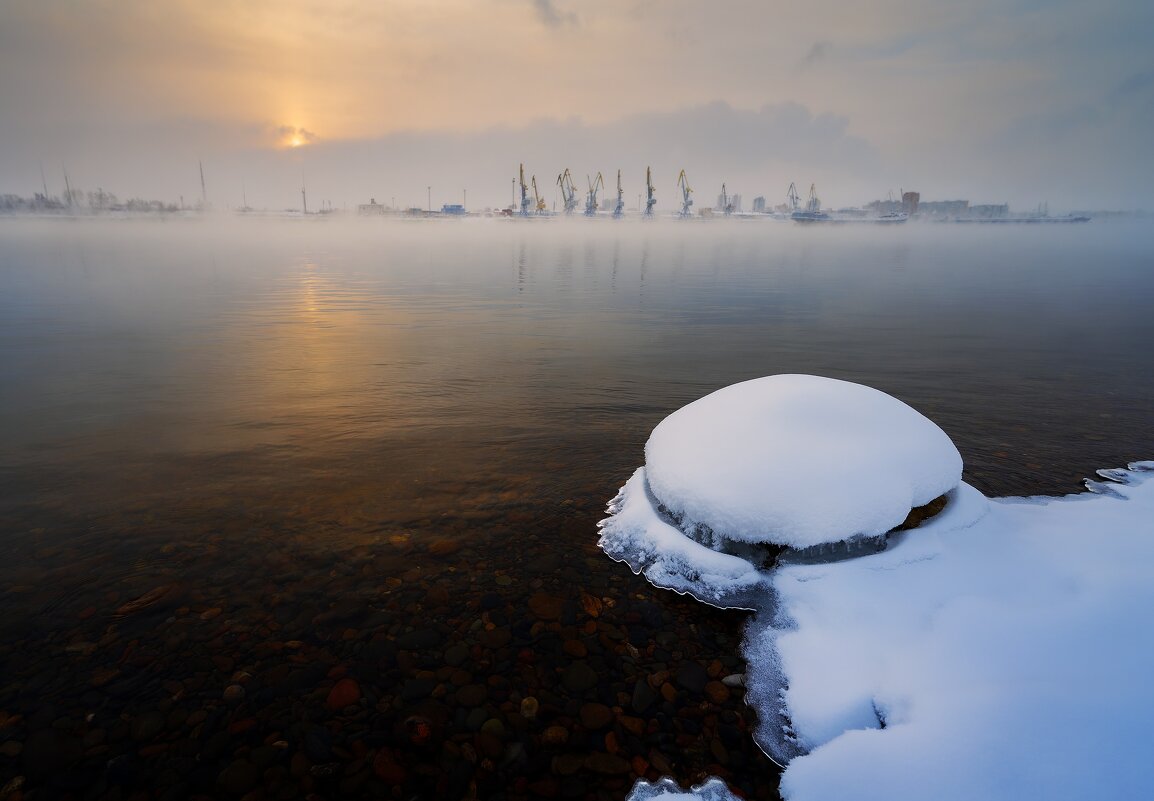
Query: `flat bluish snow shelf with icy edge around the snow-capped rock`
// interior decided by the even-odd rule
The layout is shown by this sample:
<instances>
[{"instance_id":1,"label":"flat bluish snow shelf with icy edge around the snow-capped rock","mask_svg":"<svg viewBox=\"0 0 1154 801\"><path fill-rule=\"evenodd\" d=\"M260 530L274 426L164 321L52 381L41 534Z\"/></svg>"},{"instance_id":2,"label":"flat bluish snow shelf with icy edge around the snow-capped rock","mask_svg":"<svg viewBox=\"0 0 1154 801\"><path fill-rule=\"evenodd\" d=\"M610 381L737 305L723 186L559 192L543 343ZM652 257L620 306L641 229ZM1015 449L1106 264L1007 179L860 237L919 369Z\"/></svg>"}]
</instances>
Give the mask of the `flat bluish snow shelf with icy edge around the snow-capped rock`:
<instances>
[{"instance_id":1,"label":"flat bluish snow shelf with icy edge around the snow-capped rock","mask_svg":"<svg viewBox=\"0 0 1154 801\"><path fill-rule=\"evenodd\" d=\"M651 467L601 545L659 586L758 611L747 699L788 801L1154 798L1154 462L1065 499L956 482L883 553L772 571L665 523ZM630 799L657 798L643 785Z\"/></svg>"}]
</instances>

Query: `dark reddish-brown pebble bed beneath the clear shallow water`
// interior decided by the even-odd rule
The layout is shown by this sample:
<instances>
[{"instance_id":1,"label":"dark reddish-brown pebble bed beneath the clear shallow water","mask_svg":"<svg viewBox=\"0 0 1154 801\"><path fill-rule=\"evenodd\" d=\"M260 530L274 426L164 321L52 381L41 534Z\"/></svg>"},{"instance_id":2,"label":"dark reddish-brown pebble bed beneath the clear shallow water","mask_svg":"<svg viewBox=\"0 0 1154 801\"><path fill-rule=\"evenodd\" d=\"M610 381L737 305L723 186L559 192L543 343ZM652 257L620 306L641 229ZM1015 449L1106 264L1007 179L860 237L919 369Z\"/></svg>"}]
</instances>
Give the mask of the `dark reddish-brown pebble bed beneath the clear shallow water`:
<instances>
[{"instance_id":1,"label":"dark reddish-brown pebble bed beneath the clear shallow water","mask_svg":"<svg viewBox=\"0 0 1154 801\"><path fill-rule=\"evenodd\" d=\"M744 614L606 559L600 499L412 525L345 500L83 530L9 509L0 800L620 800L664 776L778 798Z\"/></svg>"}]
</instances>

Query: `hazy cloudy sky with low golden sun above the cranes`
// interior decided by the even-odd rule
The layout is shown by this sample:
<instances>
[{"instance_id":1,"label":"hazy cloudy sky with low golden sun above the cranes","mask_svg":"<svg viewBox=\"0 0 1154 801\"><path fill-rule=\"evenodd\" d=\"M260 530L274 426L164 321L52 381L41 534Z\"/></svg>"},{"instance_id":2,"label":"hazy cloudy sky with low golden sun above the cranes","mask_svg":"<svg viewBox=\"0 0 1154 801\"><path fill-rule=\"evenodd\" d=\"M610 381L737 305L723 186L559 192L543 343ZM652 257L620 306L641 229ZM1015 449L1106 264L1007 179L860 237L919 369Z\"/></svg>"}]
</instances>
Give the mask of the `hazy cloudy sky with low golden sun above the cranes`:
<instances>
[{"instance_id":1,"label":"hazy cloudy sky with low golden sun above the cranes","mask_svg":"<svg viewBox=\"0 0 1154 801\"><path fill-rule=\"evenodd\" d=\"M1152 40L1145 0L0 0L0 194L1152 209Z\"/></svg>"}]
</instances>

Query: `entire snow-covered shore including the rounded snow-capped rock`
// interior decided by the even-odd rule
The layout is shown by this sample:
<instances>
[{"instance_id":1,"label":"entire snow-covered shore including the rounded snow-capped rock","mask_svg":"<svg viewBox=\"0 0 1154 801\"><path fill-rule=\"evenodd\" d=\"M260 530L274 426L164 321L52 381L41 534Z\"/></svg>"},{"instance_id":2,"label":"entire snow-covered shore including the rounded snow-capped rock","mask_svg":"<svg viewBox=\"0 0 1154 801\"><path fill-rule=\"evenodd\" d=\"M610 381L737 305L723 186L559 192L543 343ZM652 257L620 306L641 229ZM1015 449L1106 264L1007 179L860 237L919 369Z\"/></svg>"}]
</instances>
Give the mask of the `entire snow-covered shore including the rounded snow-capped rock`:
<instances>
[{"instance_id":1,"label":"entire snow-covered shore including the rounded snow-capped rock","mask_svg":"<svg viewBox=\"0 0 1154 801\"><path fill-rule=\"evenodd\" d=\"M881 392L762 379L654 429L601 545L659 586L758 609L747 699L788 801L1154 798L1154 462L1065 499L988 500L959 474L941 429ZM683 533L804 547L946 489L941 515L840 562L771 571Z\"/></svg>"}]
</instances>

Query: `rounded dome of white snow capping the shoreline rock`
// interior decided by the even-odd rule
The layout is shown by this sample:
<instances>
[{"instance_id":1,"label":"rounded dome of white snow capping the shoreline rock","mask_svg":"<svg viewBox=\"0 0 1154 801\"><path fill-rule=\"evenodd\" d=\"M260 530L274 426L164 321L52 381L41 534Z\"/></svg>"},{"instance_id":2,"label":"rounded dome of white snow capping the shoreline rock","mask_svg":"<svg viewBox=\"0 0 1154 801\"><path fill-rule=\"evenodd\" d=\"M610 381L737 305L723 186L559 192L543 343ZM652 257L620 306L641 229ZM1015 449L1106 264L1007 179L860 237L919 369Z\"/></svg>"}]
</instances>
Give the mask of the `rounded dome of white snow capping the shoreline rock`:
<instances>
[{"instance_id":1,"label":"rounded dome of white snow capping the shoreline rock","mask_svg":"<svg viewBox=\"0 0 1154 801\"><path fill-rule=\"evenodd\" d=\"M755 379L695 400L645 444L649 488L690 531L807 547L882 534L961 480L931 420L869 387Z\"/></svg>"}]
</instances>

